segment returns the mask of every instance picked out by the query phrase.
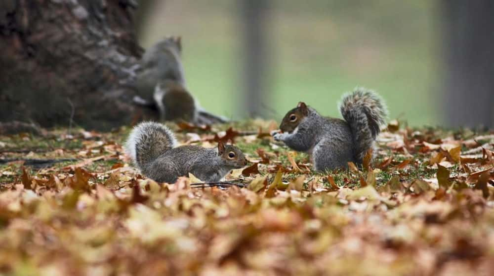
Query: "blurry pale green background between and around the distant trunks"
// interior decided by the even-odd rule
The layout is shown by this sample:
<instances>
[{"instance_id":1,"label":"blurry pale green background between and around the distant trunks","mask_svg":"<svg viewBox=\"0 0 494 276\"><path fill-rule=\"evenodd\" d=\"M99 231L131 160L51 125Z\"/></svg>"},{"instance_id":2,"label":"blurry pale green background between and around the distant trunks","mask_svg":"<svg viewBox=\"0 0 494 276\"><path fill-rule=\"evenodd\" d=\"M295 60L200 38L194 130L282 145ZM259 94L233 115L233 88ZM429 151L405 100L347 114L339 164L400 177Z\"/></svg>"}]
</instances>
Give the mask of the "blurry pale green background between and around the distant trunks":
<instances>
[{"instance_id":1,"label":"blurry pale green background between and around the distant trunks","mask_svg":"<svg viewBox=\"0 0 494 276\"><path fill-rule=\"evenodd\" d=\"M242 28L237 1L157 1L139 33L144 47L181 35L190 91L210 111L242 118ZM376 90L390 118L440 123L437 7L430 0L273 0L266 114L304 101L339 116L342 93Z\"/></svg>"}]
</instances>

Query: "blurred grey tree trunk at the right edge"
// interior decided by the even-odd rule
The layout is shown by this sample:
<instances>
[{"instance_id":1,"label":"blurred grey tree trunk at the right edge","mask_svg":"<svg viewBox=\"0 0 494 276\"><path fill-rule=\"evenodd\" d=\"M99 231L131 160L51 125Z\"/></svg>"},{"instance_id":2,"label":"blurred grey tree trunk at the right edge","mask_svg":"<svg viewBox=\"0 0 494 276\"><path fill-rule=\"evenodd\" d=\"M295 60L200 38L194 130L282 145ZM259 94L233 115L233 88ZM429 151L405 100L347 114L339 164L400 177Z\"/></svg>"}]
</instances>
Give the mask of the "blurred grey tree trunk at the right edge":
<instances>
[{"instance_id":1,"label":"blurred grey tree trunk at the right edge","mask_svg":"<svg viewBox=\"0 0 494 276\"><path fill-rule=\"evenodd\" d=\"M451 127L494 127L494 2L441 3L446 122Z\"/></svg>"}]
</instances>

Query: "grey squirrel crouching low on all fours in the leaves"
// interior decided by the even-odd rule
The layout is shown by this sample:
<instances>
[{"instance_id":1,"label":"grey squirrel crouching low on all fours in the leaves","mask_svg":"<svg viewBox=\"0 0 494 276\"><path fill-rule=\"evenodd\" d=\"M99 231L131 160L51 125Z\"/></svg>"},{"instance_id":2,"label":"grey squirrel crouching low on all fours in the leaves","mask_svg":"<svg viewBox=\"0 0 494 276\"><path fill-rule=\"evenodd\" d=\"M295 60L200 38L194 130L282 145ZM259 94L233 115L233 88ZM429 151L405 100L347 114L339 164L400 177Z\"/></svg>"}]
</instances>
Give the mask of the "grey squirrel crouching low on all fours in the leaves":
<instances>
[{"instance_id":1,"label":"grey squirrel crouching low on all fours in the leaves","mask_svg":"<svg viewBox=\"0 0 494 276\"><path fill-rule=\"evenodd\" d=\"M203 181L216 182L248 162L238 147L221 141L216 148L177 146L171 130L156 122L135 126L126 141L125 151L141 173L167 183L175 183L179 176L189 173Z\"/></svg>"}]
</instances>

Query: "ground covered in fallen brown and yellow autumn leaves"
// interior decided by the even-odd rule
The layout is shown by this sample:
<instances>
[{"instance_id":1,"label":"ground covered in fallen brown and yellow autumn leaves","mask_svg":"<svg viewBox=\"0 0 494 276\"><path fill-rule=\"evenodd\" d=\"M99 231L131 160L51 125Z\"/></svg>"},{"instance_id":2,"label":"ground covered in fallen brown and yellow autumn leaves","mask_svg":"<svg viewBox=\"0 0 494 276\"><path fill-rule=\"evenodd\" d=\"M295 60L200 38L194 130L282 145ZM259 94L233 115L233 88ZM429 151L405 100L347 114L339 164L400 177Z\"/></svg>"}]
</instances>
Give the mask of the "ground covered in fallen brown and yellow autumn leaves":
<instances>
[{"instance_id":1,"label":"ground covered in fallen brown and yellow autumn leaves","mask_svg":"<svg viewBox=\"0 0 494 276\"><path fill-rule=\"evenodd\" d=\"M0 136L0 273L494 275L492 131L394 121L363 168L314 173L274 122L172 127L253 165L156 183L128 164L129 128Z\"/></svg>"}]
</instances>

